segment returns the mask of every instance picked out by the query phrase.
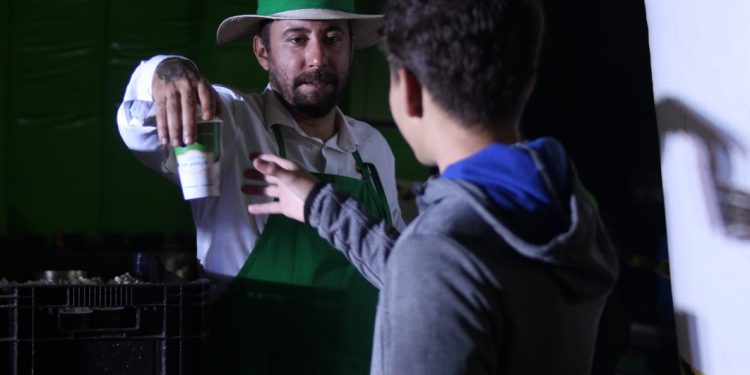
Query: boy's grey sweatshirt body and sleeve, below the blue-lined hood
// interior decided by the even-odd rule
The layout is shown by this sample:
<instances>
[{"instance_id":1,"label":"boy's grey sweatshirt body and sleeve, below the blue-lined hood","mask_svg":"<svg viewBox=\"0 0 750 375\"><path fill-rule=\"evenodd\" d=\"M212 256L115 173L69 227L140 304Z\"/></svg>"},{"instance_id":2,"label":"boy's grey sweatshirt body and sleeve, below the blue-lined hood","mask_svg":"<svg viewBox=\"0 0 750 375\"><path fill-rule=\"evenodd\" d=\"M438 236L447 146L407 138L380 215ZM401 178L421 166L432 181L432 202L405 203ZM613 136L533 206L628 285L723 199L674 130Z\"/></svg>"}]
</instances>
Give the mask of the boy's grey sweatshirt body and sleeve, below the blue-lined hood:
<instances>
[{"instance_id":1,"label":"boy's grey sweatshirt body and sleeve, below the blue-lined hood","mask_svg":"<svg viewBox=\"0 0 750 375\"><path fill-rule=\"evenodd\" d=\"M508 215L466 181L425 184L400 235L319 185L306 221L380 289L372 374L590 372L617 261L569 171L567 228L541 244L508 229Z\"/></svg>"}]
</instances>

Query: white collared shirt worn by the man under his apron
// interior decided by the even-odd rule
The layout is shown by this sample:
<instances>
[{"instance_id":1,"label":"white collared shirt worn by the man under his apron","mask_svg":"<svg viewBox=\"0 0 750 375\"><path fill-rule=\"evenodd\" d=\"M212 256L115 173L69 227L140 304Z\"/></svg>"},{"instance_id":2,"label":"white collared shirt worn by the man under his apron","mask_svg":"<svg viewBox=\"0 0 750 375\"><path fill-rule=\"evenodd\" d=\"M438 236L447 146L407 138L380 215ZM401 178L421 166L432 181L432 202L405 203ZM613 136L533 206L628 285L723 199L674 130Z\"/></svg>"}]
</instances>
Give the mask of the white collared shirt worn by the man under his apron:
<instances>
[{"instance_id":1,"label":"white collared shirt worn by the man under his apron","mask_svg":"<svg viewBox=\"0 0 750 375\"><path fill-rule=\"evenodd\" d=\"M143 61L133 72L117 112L120 135L128 148L147 166L178 183L174 153L159 145L151 95L156 66L171 56L155 56ZM352 153L357 150L365 162L375 165L391 209L394 225L404 227L395 180L395 161L385 138L372 126L345 116L337 116L344 126L327 141L307 136L271 90L245 94L215 85L222 101L221 192L219 197L189 201L196 226L197 257L212 273L234 276L250 256L263 231L267 215L251 215L247 205L266 198L242 193L248 183L242 175L252 168L250 154L278 154L271 130L280 125L287 158L311 172L361 178ZM175 190L178 194L179 190Z\"/></svg>"}]
</instances>

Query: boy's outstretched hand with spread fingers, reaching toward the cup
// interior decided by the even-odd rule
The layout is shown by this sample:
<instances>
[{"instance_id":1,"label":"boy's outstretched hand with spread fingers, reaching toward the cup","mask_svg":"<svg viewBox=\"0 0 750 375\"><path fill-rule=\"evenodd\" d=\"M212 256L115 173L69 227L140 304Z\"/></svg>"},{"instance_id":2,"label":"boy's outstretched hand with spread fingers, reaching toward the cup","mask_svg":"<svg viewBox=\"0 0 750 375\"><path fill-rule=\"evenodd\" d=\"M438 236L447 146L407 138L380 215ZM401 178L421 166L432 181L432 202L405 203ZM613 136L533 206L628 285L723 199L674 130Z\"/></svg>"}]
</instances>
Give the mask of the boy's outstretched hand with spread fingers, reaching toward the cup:
<instances>
[{"instance_id":1,"label":"boy's outstretched hand with spread fingers, reaching toward the cup","mask_svg":"<svg viewBox=\"0 0 750 375\"><path fill-rule=\"evenodd\" d=\"M246 170L245 177L265 181L265 185L242 185L246 194L265 195L273 202L247 206L251 214L282 214L305 221L305 200L319 182L297 163L273 154L260 154L253 159L255 171Z\"/></svg>"}]
</instances>

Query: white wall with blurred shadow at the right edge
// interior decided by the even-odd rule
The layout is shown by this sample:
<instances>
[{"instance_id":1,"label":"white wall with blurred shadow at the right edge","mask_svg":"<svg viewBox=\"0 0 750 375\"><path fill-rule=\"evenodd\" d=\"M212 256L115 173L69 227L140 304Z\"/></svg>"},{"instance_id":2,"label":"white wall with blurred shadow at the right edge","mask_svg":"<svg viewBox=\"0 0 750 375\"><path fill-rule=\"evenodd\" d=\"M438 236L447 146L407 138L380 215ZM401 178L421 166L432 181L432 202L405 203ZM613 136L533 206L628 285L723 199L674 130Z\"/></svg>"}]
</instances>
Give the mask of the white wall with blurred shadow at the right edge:
<instances>
[{"instance_id":1,"label":"white wall with blurred shadow at the right edge","mask_svg":"<svg viewBox=\"0 0 750 375\"><path fill-rule=\"evenodd\" d=\"M645 3L680 355L750 374L750 1Z\"/></svg>"}]
</instances>

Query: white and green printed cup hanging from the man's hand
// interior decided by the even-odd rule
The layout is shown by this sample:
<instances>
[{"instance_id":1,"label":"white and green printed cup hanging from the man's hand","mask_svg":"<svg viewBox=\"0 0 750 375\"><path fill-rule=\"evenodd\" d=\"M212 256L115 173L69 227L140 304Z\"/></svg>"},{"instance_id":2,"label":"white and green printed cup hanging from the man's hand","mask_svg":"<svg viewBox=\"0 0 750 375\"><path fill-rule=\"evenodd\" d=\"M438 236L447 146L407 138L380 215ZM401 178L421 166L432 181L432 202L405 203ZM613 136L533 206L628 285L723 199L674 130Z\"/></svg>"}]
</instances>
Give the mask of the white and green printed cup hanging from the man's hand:
<instances>
[{"instance_id":1,"label":"white and green printed cup hanging from the man's hand","mask_svg":"<svg viewBox=\"0 0 750 375\"><path fill-rule=\"evenodd\" d=\"M221 120L199 121L196 142L174 148L186 200L219 196L221 123Z\"/></svg>"}]
</instances>

